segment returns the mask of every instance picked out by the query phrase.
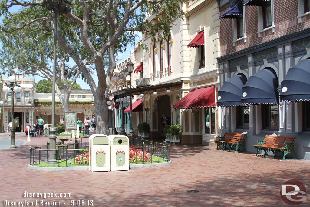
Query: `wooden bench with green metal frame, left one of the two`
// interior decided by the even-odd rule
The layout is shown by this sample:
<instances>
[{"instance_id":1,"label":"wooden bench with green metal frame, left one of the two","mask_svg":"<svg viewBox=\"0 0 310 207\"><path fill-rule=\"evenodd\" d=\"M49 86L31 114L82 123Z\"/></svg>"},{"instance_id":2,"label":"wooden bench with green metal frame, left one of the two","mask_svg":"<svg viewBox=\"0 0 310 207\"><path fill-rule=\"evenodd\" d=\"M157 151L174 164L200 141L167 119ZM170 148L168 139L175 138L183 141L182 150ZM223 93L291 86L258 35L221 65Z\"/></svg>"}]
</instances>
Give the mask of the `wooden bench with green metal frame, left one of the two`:
<instances>
[{"instance_id":1,"label":"wooden bench with green metal frame, left one of the two","mask_svg":"<svg viewBox=\"0 0 310 207\"><path fill-rule=\"evenodd\" d=\"M236 147L236 151L238 152L239 147L243 147L243 150L246 151L246 146L244 140L246 138L246 134L238 134L238 133L225 133L224 137L218 137L218 140L214 142L217 143L216 149L219 149L220 145L223 145L222 150L226 149L226 146L229 146L229 151L233 146Z\"/></svg>"}]
</instances>

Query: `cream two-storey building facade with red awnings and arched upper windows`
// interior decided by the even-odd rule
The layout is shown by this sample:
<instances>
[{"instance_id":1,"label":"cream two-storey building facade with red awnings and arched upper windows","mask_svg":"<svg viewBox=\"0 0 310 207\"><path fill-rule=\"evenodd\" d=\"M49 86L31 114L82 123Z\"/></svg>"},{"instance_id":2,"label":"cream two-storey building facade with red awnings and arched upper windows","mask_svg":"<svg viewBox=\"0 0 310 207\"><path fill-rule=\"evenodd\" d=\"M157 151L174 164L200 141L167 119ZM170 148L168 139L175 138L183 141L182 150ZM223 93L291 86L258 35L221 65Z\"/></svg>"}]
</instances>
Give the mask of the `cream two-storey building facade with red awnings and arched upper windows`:
<instances>
[{"instance_id":1,"label":"cream two-storey building facade with red awnings and arched upper windows","mask_svg":"<svg viewBox=\"0 0 310 207\"><path fill-rule=\"evenodd\" d=\"M182 2L181 9L185 16L171 23L168 37L158 34L154 43L151 37L143 36L148 49L133 50L130 59L139 74L135 79L143 84L135 90L111 92L109 96L116 100L131 92L135 100L142 99L141 111L135 113L133 125L147 122L151 138L164 137L160 119L165 113L170 117L170 124L181 125L182 143L214 145L220 121L220 111L215 105L220 87L216 58L221 54L218 3L215 0ZM153 18L149 16L148 20ZM197 88L209 90L213 97L211 104L192 103L185 107L179 103ZM174 108L177 103L178 107Z\"/></svg>"}]
</instances>

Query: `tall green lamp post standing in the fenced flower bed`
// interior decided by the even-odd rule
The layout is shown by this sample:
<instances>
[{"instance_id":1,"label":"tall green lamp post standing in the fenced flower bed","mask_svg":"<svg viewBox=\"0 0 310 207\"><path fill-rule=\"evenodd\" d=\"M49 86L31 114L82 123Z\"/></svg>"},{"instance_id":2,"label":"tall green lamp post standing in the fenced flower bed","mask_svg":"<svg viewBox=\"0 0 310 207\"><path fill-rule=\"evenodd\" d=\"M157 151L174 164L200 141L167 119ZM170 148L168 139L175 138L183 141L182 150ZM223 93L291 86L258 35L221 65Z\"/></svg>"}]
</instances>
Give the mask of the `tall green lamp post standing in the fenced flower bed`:
<instances>
[{"instance_id":1,"label":"tall green lamp post standing in the fenced flower bed","mask_svg":"<svg viewBox=\"0 0 310 207\"><path fill-rule=\"evenodd\" d=\"M53 67L53 86L52 86L52 127L50 128L50 149L49 152L49 164L55 164L56 160L56 128L55 128L55 77L56 77L56 45L57 45L57 16L58 11L60 14L70 12L71 9L67 7L71 3L66 0L41 0L40 5L46 7L48 10L53 10L55 13L55 22L54 22L54 67Z\"/></svg>"}]
</instances>

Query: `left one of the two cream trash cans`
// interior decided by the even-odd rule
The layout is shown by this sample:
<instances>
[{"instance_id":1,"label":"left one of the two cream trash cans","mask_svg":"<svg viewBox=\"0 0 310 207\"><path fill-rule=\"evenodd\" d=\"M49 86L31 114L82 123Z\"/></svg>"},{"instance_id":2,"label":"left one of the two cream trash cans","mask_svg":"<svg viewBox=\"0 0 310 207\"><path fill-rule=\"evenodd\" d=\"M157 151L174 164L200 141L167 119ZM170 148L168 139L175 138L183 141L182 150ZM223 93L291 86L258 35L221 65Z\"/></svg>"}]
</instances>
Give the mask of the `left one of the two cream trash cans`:
<instances>
[{"instance_id":1,"label":"left one of the two cream trash cans","mask_svg":"<svg viewBox=\"0 0 310 207\"><path fill-rule=\"evenodd\" d=\"M92 172L110 171L110 143L104 134L89 137L89 169Z\"/></svg>"}]
</instances>

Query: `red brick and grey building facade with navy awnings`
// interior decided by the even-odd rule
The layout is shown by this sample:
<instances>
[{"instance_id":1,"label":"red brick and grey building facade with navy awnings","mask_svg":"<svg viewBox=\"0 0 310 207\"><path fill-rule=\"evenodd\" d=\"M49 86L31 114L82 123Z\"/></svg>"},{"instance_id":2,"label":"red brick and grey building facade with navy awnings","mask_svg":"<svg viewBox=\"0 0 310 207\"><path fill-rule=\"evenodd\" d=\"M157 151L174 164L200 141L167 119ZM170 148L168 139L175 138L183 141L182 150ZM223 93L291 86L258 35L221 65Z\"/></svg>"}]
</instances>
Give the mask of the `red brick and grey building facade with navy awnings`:
<instances>
[{"instance_id":1,"label":"red brick and grey building facade with navy awnings","mask_svg":"<svg viewBox=\"0 0 310 207\"><path fill-rule=\"evenodd\" d=\"M309 97L285 100L281 96L291 88L281 85L310 57L310 1L219 2L221 135L246 131L250 152L266 135L297 137L295 156L309 160Z\"/></svg>"}]
</instances>

